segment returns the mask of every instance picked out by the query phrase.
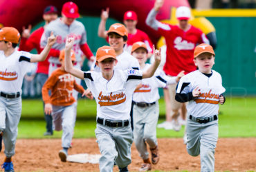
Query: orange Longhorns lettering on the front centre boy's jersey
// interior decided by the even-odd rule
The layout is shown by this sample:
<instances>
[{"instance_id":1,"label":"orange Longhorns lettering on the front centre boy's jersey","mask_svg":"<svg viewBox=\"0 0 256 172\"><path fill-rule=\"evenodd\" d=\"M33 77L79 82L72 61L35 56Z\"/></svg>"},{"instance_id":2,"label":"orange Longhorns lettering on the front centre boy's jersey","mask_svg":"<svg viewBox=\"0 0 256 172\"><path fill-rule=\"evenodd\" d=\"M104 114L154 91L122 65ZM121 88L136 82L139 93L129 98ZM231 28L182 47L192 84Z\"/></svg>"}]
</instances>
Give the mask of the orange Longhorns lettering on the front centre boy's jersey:
<instances>
[{"instance_id":1,"label":"orange Longhorns lettering on the front centre boy's jersey","mask_svg":"<svg viewBox=\"0 0 256 172\"><path fill-rule=\"evenodd\" d=\"M121 103L124 103L126 100L126 95L123 92L120 92L119 94L113 94L112 92L109 95L102 95L102 92L100 92L98 96L98 100L100 106L113 106L113 105L119 105Z\"/></svg>"}]
</instances>

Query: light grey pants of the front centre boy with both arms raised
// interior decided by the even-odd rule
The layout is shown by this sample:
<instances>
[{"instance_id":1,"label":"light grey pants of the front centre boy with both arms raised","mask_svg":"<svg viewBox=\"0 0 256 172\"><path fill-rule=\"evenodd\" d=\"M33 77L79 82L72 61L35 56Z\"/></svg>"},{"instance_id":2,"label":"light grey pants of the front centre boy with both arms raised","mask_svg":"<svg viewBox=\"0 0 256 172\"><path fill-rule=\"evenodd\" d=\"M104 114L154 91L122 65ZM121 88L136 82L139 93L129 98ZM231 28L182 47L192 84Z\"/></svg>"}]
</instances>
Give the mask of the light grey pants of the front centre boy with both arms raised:
<instances>
[{"instance_id":1,"label":"light grey pants of the front centre boy with both arms raised","mask_svg":"<svg viewBox=\"0 0 256 172\"><path fill-rule=\"evenodd\" d=\"M100 172L113 171L113 163L123 168L131 164L132 131L127 127L108 127L97 124L95 135L100 148Z\"/></svg>"}]
</instances>

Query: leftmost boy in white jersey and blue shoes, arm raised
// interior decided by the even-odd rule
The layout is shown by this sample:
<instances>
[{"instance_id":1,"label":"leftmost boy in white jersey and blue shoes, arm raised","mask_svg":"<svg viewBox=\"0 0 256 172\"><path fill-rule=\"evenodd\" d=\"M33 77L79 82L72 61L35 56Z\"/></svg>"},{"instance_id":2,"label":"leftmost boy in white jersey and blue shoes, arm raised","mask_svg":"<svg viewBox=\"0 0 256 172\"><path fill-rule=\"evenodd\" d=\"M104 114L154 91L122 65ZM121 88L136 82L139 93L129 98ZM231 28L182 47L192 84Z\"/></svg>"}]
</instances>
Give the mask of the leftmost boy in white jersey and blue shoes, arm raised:
<instances>
[{"instance_id":1,"label":"leftmost boy in white jersey and blue shoes, arm raised","mask_svg":"<svg viewBox=\"0 0 256 172\"><path fill-rule=\"evenodd\" d=\"M33 67L31 64L44 61L55 43L55 36L51 33L44 50L40 54L30 54L16 49L19 39L20 34L15 28L4 27L0 30L0 141L3 137L6 159L2 168L5 171L14 171L12 156L15 154L17 127L21 117L22 81Z\"/></svg>"}]
</instances>

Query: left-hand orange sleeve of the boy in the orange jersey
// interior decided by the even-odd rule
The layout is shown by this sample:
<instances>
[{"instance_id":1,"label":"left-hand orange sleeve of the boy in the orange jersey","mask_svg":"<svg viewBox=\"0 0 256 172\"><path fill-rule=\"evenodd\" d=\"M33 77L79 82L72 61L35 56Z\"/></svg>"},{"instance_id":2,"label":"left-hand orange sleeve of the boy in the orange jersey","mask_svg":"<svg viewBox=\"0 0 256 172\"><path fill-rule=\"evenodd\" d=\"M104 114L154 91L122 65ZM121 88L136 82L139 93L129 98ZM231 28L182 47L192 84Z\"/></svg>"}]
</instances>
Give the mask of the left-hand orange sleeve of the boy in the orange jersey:
<instances>
[{"instance_id":1,"label":"left-hand orange sleeve of the boy in the orange jersey","mask_svg":"<svg viewBox=\"0 0 256 172\"><path fill-rule=\"evenodd\" d=\"M53 91L53 87L56 84L57 79L57 75L55 75L55 72L53 72L53 74L51 74L51 76L46 80L46 83L44 83L44 86L42 87L42 97L45 104L51 103L51 97L49 96L48 92L50 89Z\"/></svg>"}]
</instances>

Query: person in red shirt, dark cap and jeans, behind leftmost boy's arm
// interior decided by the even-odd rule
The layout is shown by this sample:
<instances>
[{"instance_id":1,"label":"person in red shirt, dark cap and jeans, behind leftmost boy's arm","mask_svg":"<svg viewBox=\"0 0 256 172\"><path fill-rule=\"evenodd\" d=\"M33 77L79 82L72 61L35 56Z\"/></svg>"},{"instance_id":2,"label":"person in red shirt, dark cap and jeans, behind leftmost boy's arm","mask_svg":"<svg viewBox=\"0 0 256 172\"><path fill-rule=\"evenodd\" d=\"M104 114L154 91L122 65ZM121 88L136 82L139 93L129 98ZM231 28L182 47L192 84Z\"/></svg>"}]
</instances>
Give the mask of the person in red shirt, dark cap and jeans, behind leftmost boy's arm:
<instances>
[{"instance_id":1,"label":"person in red shirt, dark cap and jeans, behind leftmost boy's arm","mask_svg":"<svg viewBox=\"0 0 256 172\"><path fill-rule=\"evenodd\" d=\"M19 44L19 50L30 52L31 50L35 49L37 50L37 53L42 52L43 49L42 47L40 47L40 40L41 40L42 34L44 33L44 28L46 27L46 25L48 25L48 23L57 19L57 8L55 8L55 6L47 6L44 9L43 19L45 21L44 26L35 30L32 34L30 34L31 25L29 25L27 29L25 27L23 28L23 32L21 35L21 42ZM60 51L51 49L46 60L37 63L37 82L39 83L40 89L42 89L44 83L48 78L48 69L49 69L48 58L53 54L55 56L59 56ZM53 118L51 115L46 115L46 114L44 114L44 118L46 120L46 132L44 133L44 136L52 136L53 135L53 122L52 122Z\"/></svg>"}]
</instances>

